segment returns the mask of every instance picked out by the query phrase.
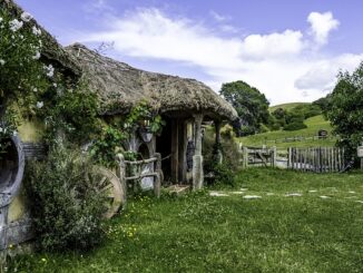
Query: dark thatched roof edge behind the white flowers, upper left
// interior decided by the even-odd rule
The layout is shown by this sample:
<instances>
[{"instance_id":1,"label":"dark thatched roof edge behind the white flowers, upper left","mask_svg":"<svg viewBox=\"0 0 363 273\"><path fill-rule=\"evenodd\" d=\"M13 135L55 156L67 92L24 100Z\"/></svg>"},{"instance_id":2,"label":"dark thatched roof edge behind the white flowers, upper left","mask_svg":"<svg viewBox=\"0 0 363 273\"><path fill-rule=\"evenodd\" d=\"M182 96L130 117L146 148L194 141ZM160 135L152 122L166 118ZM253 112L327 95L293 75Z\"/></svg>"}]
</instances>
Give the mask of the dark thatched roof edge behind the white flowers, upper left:
<instances>
[{"instance_id":1,"label":"dark thatched roof edge behind the white flowers, upper left","mask_svg":"<svg viewBox=\"0 0 363 273\"><path fill-rule=\"evenodd\" d=\"M0 0L0 9L7 9L11 14L17 17L18 19L23 12L22 8L19 7L12 0ZM46 58L52 64L59 64L60 68L68 70L68 72L71 72L72 75L80 75L80 68L78 67L72 56L69 55L63 49L63 47L59 45L58 41L50 33L47 32L47 30L39 26L39 23L35 19L31 19L31 21L26 25L26 27L28 26L36 26L41 30L41 40L43 43L41 50L42 58Z\"/></svg>"}]
</instances>

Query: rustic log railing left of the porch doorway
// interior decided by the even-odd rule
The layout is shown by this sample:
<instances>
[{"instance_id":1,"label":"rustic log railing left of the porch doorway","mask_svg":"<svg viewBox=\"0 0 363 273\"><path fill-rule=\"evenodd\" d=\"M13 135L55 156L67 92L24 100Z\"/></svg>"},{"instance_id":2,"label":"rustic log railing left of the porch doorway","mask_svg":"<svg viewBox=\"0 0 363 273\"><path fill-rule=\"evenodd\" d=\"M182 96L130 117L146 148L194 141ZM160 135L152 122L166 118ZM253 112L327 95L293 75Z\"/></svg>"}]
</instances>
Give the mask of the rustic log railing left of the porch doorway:
<instances>
[{"instance_id":1,"label":"rustic log railing left of the porch doorway","mask_svg":"<svg viewBox=\"0 0 363 273\"><path fill-rule=\"evenodd\" d=\"M161 155L156 153L154 154L154 157L148 158L148 159L144 159L144 160L125 160L124 155L119 154L118 156L118 162L119 162L119 179L121 185L127 185L128 181L137 181L137 179L141 179L144 177L155 177L154 178L154 193L157 197L160 196L160 188L161 188L161 179L163 179L163 170L161 170ZM154 167L154 172L149 172L149 173L145 173L141 174L141 167L154 163L155 167ZM136 174L133 174L133 176L127 176L127 169L129 169L130 167L136 167L134 168L134 170L136 170ZM125 191L127 191L125 188Z\"/></svg>"}]
</instances>

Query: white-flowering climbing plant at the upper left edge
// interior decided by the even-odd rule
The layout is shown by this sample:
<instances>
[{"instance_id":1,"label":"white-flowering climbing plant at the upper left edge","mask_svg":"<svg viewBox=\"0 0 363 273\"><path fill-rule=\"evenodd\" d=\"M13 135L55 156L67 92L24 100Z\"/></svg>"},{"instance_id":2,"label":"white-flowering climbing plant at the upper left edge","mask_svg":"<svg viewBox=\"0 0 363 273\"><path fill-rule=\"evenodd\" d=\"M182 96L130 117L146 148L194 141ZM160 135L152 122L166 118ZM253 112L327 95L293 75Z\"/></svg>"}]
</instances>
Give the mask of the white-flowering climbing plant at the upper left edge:
<instances>
[{"instance_id":1,"label":"white-flowering climbing plant at the upper left edge","mask_svg":"<svg viewBox=\"0 0 363 273\"><path fill-rule=\"evenodd\" d=\"M7 146L4 139L17 134L19 116L33 115L42 107L39 95L53 77L52 66L39 61L41 30L29 13L16 18L7 4L0 3L0 154Z\"/></svg>"}]
</instances>

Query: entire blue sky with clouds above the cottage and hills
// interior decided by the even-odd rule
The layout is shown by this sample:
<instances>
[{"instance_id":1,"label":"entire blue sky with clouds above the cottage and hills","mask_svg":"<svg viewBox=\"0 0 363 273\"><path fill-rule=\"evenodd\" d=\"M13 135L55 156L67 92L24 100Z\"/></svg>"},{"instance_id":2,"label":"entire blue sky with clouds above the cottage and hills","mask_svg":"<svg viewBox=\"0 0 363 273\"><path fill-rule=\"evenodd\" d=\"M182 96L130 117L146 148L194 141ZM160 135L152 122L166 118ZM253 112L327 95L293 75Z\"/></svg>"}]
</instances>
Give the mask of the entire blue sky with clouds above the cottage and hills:
<instances>
[{"instance_id":1,"label":"entire blue sky with clouds above the cottage and hills","mask_svg":"<svg viewBox=\"0 0 363 273\"><path fill-rule=\"evenodd\" d=\"M62 45L218 90L245 80L272 105L312 101L363 60L359 0L18 0Z\"/></svg>"}]
</instances>

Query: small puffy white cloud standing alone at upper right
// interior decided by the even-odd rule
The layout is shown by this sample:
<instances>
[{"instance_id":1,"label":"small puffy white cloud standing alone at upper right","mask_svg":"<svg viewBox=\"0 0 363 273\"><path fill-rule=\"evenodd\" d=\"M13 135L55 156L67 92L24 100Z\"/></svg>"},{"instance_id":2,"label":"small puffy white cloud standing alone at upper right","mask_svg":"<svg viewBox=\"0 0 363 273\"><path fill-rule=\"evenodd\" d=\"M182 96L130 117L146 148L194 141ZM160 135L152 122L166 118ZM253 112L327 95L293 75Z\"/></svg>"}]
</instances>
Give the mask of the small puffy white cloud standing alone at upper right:
<instances>
[{"instance_id":1,"label":"small puffy white cloud standing alone at upper right","mask_svg":"<svg viewBox=\"0 0 363 273\"><path fill-rule=\"evenodd\" d=\"M340 21L334 19L332 12L311 12L307 21L311 23L311 33L318 46L326 45L330 32L337 29L340 25Z\"/></svg>"}]
</instances>

